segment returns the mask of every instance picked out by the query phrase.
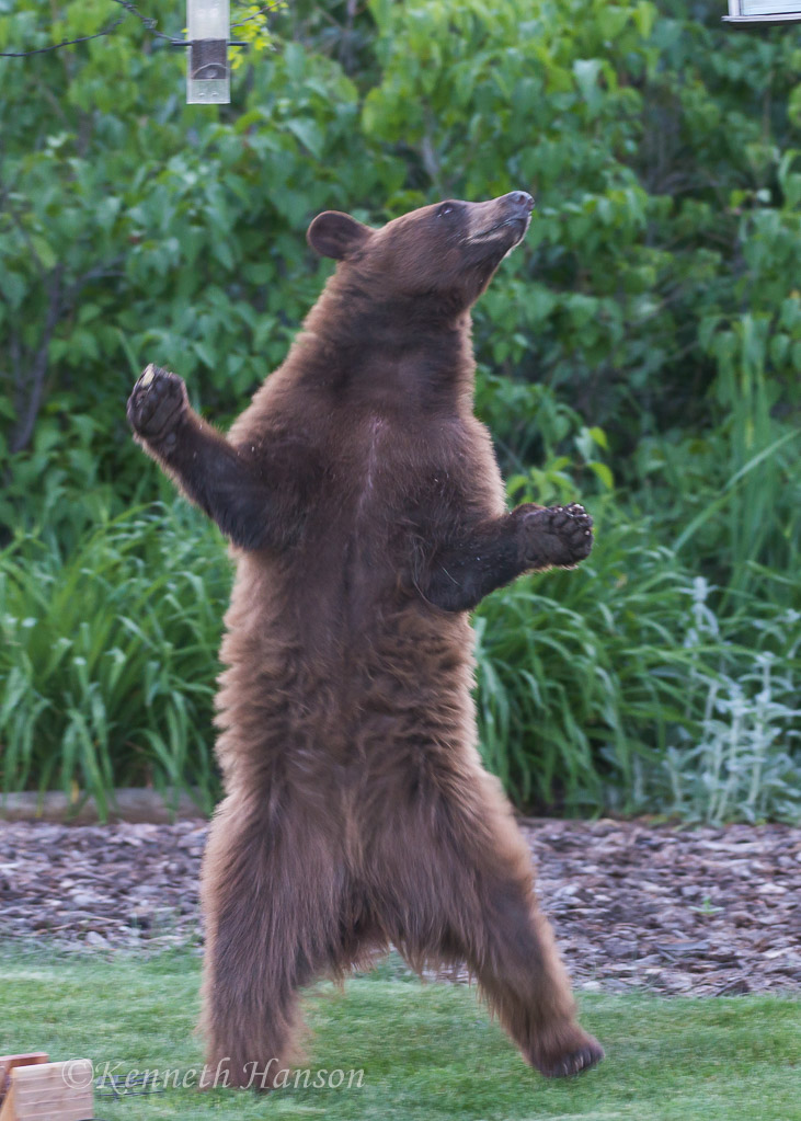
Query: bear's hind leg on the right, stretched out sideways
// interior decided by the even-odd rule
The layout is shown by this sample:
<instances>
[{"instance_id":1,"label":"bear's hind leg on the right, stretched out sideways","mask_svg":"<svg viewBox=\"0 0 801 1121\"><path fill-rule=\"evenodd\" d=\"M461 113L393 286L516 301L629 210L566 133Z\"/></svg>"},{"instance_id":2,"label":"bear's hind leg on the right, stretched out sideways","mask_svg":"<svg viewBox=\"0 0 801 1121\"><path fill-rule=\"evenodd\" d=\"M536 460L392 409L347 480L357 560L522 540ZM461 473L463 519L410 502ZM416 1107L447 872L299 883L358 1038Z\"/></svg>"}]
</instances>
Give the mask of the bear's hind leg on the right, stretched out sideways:
<instances>
[{"instance_id":1,"label":"bear's hind leg on the right, stretched out sideways","mask_svg":"<svg viewBox=\"0 0 801 1121\"><path fill-rule=\"evenodd\" d=\"M458 789L459 798L441 787L418 793L422 812L388 821L373 847L388 935L418 969L466 960L527 1062L548 1076L577 1074L604 1051L576 1020L567 972L534 898L528 846L486 773L474 772Z\"/></svg>"}]
</instances>

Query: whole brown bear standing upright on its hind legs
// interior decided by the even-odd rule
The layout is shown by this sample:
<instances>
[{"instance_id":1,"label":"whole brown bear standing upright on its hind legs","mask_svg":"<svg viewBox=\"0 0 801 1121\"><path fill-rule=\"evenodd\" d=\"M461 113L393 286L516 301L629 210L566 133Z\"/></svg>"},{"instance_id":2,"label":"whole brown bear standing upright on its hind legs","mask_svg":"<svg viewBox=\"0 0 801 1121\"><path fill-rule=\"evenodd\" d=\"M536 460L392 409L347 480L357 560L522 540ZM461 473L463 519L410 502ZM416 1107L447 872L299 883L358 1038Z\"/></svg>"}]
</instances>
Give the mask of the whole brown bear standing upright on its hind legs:
<instances>
[{"instance_id":1,"label":"whole brown bear standing upright on its hind legs","mask_svg":"<svg viewBox=\"0 0 801 1121\"><path fill-rule=\"evenodd\" d=\"M128 402L237 566L202 883L207 1063L229 1084L290 1059L299 989L390 943L416 967L466 961L543 1074L603 1056L471 698L468 612L592 547L580 506L506 511L473 415L469 309L532 206L448 201L381 230L320 214L308 240L336 271L227 437L156 367Z\"/></svg>"}]
</instances>

